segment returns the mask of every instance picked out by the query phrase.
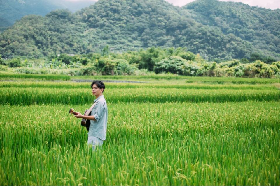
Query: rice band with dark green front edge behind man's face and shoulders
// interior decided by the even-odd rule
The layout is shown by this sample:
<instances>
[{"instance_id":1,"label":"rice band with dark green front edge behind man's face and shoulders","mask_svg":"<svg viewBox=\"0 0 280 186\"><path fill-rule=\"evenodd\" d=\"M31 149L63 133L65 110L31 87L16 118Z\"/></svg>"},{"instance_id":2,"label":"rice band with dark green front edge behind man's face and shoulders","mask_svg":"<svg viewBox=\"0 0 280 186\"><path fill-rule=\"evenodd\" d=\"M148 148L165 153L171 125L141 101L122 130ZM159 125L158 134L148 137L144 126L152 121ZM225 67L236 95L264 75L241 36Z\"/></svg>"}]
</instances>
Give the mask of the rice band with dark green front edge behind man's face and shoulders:
<instances>
[{"instance_id":1,"label":"rice band with dark green front edge behind man's face and shoulders","mask_svg":"<svg viewBox=\"0 0 280 186\"><path fill-rule=\"evenodd\" d=\"M209 90L174 88L105 89L108 103L280 101L279 90ZM0 88L0 104L91 104L91 89Z\"/></svg>"}]
</instances>

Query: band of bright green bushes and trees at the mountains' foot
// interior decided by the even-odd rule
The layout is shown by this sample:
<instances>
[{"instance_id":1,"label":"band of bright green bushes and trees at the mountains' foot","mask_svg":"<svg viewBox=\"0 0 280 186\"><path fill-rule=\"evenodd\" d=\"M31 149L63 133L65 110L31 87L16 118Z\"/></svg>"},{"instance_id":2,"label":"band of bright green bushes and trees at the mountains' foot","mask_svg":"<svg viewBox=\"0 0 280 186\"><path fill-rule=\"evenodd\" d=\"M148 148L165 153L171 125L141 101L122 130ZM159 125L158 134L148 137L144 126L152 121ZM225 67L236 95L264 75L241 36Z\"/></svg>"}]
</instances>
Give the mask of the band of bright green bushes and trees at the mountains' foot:
<instances>
[{"instance_id":1,"label":"band of bright green bushes and trees at the mountains' foot","mask_svg":"<svg viewBox=\"0 0 280 186\"><path fill-rule=\"evenodd\" d=\"M280 61L272 64L260 60L206 61L185 48L155 48L112 53L49 56L48 59L0 58L0 71L20 74L80 75L154 75L280 78Z\"/></svg>"}]
</instances>

